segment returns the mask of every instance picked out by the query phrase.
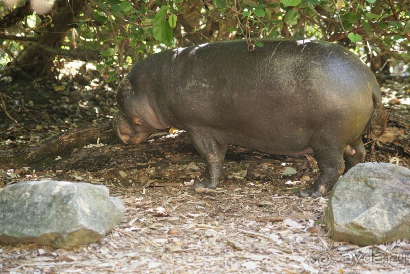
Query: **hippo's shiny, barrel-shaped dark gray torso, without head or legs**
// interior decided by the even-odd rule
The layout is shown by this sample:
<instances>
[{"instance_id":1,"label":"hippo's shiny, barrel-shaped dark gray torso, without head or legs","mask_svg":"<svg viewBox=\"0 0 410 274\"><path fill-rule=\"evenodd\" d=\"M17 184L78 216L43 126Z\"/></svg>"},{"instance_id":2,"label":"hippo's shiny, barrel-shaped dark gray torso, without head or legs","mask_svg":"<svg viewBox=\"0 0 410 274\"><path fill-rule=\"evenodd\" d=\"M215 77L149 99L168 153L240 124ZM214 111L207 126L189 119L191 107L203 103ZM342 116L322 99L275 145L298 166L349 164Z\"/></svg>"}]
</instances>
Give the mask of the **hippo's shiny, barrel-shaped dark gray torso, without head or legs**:
<instances>
[{"instance_id":1,"label":"hippo's shiny, barrel-shaped dark gray torso, without head or legs","mask_svg":"<svg viewBox=\"0 0 410 274\"><path fill-rule=\"evenodd\" d=\"M249 51L234 41L156 55L166 79L154 94L166 106L160 115L182 129L212 131L220 142L287 154L268 147L284 134L301 136L296 147L303 150L318 131L350 131L335 140L349 143L373 113L373 74L336 44L273 40Z\"/></svg>"}]
</instances>

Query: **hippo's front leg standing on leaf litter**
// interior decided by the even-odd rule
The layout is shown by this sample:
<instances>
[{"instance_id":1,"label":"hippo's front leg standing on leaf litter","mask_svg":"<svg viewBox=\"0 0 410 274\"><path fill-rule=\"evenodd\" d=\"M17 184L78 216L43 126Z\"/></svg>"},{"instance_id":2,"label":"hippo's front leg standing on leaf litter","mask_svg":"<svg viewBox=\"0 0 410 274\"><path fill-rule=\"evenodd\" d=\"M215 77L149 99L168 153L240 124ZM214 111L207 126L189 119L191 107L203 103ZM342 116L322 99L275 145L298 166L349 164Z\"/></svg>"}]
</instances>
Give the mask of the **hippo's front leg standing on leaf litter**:
<instances>
[{"instance_id":1,"label":"hippo's front leg standing on leaf litter","mask_svg":"<svg viewBox=\"0 0 410 274\"><path fill-rule=\"evenodd\" d=\"M219 184L220 175L222 174L222 165L224 163L225 152L227 144L219 144L209 134L202 134L196 131L188 132L191 142L199 154L204 157L206 161L205 173L201 180L196 180L194 187L201 188L216 188Z\"/></svg>"}]
</instances>

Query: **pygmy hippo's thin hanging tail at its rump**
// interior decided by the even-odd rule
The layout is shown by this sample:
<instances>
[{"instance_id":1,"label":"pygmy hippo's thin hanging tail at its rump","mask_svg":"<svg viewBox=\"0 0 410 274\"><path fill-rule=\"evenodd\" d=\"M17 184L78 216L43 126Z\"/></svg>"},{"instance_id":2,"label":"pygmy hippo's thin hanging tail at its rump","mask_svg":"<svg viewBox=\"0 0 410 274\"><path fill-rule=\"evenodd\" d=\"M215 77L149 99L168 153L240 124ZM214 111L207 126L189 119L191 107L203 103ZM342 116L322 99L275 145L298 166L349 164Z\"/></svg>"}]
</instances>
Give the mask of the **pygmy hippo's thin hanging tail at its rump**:
<instances>
[{"instance_id":1,"label":"pygmy hippo's thin hanging tail at its rump","mask_svg":"<svg viewBox=\"0 0 410 274\"><path fill-rule=\"evenodd\" d=\"M387 114L382 104L382 95L377 85L373 87L373 116L370 120L370 127L367 131L368 135L372 139L377 139L386 130Z\"/></svg>"}]
</instances>

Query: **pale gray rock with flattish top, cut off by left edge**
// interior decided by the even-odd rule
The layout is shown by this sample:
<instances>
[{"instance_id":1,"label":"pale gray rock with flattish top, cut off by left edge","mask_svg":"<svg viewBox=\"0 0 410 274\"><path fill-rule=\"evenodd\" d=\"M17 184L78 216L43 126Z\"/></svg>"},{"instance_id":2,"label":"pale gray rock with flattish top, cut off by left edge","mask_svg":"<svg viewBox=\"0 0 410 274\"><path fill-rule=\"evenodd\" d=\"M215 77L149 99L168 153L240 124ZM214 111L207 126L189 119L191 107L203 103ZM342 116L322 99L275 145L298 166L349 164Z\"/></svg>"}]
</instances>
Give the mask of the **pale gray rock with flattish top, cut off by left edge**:
<instances>
[{"instance_id":1,"label":"pale gray rock with flattish top, cut off by left edge","mask_svg":"<svg viewBox=\"0 0 410 274\"><path fill-rule=\"evenodd\" d=\"M89 183L26 181L0 189L0 242L64 248L97 241L121 222L124 205Z\"/></svg>"}]
</instances>

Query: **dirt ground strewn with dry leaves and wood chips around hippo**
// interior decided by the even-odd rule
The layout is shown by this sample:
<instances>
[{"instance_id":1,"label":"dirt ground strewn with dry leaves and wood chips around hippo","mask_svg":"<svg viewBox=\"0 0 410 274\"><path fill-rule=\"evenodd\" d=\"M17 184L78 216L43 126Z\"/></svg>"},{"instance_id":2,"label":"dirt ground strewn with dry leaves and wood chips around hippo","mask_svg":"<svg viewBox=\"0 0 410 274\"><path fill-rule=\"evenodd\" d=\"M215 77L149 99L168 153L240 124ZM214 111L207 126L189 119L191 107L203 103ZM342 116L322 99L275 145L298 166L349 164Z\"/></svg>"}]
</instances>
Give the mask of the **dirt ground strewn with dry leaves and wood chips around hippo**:
<instances>
[{"instance_id":1,"label":"dirt ground strewn with dry leaves and wood chips around hippo","mask_svg":"<svg viewBox=\"0 0 410 274\"><path fill-rule=\"evenodd\" d=\"M27 99L27 90L49 97ZM72 127L109 121L116 112L115 92L91 76L3 90L0 152L39 144ZM408 83L383 84L388 113L407 121L409 95ZM186 134L164 138L166 134L160 132L147 143L149 163L127 159L128 165L113 163L101 170L87 165L78 170L0 169L0 187L42 178L91 182L106 185L127 208L121 224L96 243L70 249L0 244L0 272L410 273L408 240L359 247L327 235L322 218L328 197L296 196L298 188L319 174L311 159L230 147L220 188L196 191L190 181L205 164ZM366 149L366 161L410 165L408 154L397 153L395 147L389 152L376 147L371 153L368 143ZM287 175L290 170L296 173Z\"/></svg>"}]
</instances>

